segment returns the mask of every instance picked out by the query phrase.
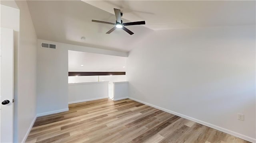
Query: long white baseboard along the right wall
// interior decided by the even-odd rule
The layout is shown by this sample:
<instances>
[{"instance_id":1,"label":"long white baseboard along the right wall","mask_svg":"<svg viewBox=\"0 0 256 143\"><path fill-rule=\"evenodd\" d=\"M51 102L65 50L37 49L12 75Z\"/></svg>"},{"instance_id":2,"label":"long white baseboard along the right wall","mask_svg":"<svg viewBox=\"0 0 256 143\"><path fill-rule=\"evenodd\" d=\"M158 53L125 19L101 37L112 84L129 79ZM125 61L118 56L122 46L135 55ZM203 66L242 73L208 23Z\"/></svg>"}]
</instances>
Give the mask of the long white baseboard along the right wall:
<instances>
[{"instance_id":1,"label":"long white baseboard along the right wall","mask_svg":"<svg viewBox=\"0 0 256 143\"><path fill-rule=\"evenodd\" d=\"M182 117L182 118L189 119L189 120L194 121L194 122L196 122L196 123L200 123L200 124L205 125L205 126L207 126L207 127L211 127L211 128L216 129L216 130L218 130L218 131L222 131L222 132L224 132L224 133L228 133L228 134L230 134L230 135L234 135L235 137L239 137L239 138L244 139L244 140L246 140L246 141L250 141L250 142L252 142L252 143L256 143L256 139L254 139L254 138L252 138L252 137L248 137L248 136L246 136L246 135L242 135L242 134L240 134L240 133L236 133L236 132L234 132L234 131L230 131L230 130L225 129L225 128L223 128L223 127L219 127L219 126L217 126L217 125L213 125L213 124L211 124L211 123L207 123L207 122L201 121L201 120L199 120L199 119L195 119L195 118L192 118L192 117L183 115L183 114L179 114L179 113L177 113L177 112L173 112L173 111L171 111L171 110L167 110L167 109L164 109L164 108L161 108L161 107L158 107L158 106L149 104L149 103L147 103L147 102L143 102L143 101L137 100L137 99L132 98L132 97L128 97L128 98L131 99L131 100L134 100L134 101L137 101L137 102L146 104L146 105L148 105L148 106L157 108L157 109L162 110L162 111L164 111L164 112L168 112L168 113L170 113L170 114L174 114L174 115L176 115L176 116L180 116L180 117Z\"/></svg>"}]
</instances>

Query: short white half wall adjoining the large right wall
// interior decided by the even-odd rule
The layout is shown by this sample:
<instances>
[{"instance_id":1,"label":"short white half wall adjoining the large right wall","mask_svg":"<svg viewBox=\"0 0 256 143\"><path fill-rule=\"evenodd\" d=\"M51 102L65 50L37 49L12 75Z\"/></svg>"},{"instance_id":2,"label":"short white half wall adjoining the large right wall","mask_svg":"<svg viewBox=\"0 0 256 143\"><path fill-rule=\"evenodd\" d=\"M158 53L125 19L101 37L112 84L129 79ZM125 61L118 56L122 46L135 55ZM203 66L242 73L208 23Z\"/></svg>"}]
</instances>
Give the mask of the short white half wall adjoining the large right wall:
<instances>
[{"instance_id":1,"label":"short white half wall adjoining the large right wall","mask_svg":"<svg viewBox=\"0 0 256 143\"><path fill-rule=\"evenodd\" d=\"M128 98L128 82L113 82L114 101Z\"/></svg>"}]
</instances>

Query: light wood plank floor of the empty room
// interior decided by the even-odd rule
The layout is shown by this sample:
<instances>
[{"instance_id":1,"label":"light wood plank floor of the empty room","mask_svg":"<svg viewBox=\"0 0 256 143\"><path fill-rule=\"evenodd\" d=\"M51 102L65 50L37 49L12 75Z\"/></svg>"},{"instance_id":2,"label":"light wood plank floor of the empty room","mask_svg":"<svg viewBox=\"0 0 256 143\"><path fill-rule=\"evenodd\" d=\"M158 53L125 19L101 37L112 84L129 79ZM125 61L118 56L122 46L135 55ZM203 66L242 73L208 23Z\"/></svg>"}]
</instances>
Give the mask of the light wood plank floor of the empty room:
<instances>
[{"instance_id":1,"label":"light wood plank floor of the empty room","mask_svg":"<svg viewBox=\"0 0 256 143\"><path fill-rule=\"evenodd\" d=\"M38 117L26 143L249 143L210 127L126 99L70 104Z\"/></svg>"}]
</instances>

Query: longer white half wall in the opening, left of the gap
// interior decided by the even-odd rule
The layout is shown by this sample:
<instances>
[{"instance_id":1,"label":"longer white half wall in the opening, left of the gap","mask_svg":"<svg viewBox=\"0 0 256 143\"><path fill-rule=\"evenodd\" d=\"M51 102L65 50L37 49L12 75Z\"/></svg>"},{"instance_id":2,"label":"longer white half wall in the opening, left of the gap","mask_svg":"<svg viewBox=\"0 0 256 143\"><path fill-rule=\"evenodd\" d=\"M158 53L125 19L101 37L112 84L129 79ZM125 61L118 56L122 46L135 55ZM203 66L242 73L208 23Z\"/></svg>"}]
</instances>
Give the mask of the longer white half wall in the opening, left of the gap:
<instances>
[{"instance_id":1,"label":"longer white half wall in the opening, left of the gap","mask_svg":"<svg viewBox=\"0 0 256 143\"><path fill-rule=\"evenodd\" d=\"M68 104L108 98L108 82L68 84Z\"/></svg>"}]
</instances>

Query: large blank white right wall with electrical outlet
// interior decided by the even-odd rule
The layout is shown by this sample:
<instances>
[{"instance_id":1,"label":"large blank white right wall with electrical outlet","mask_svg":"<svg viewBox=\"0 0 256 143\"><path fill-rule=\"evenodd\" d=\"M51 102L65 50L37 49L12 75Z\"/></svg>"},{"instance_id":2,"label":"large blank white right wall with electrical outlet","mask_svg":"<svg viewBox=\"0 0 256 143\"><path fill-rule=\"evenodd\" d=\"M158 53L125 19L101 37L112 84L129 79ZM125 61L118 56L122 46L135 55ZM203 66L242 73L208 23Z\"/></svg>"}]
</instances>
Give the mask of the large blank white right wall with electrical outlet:
<instances>
[{"instance_id":1,"label":"large blank white right wall with electrical outlet","mask_svg":"<svg viewBox=\"0 0 256 143\"><path fill-rule=\"evenodd\" d=\"M255 25L155 31L129 53L129 96L255 142L255 46Z\"/></svg>"}]
</instances>

